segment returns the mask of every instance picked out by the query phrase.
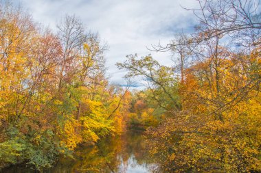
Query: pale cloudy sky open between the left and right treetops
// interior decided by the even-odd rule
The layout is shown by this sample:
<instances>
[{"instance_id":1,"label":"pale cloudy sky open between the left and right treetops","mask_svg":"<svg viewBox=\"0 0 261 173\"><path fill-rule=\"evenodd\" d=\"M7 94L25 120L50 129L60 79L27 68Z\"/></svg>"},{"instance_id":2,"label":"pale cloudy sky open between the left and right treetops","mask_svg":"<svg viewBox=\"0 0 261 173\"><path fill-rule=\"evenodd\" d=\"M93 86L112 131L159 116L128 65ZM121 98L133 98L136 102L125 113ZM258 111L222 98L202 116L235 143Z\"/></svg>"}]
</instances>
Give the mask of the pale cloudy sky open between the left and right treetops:
<instances>
[{"instance_id":1,"label":"pale cloudy sky open between the left and right treetops","mask_svg":"<svg viewBox=\"0 0 261 173\"><path fill-rule=\"evenodd\" d=\"M98 32L109 45L106 66L111 83L122 84L124 71L115 66L126 55L152 54L161 64L170 65L171 53L156 53L146 49L151 44L166 44L174 34L192 31L192 12L196 0L14 0L32 14L35 21L51 28L65 14L75 14L87 29Z\"/></svg>"}]
</instances>

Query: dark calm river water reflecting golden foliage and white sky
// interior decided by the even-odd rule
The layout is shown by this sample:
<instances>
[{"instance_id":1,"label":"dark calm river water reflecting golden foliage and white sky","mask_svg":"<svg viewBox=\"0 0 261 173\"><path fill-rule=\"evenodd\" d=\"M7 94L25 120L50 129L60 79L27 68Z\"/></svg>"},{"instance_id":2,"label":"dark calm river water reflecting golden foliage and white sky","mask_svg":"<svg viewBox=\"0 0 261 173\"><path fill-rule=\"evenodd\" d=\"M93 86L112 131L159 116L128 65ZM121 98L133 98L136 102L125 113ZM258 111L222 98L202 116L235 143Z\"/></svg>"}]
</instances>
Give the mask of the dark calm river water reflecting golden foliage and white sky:
<instances>
[{"instance_id":1,"label":"dark calm river water reflecting golden foliage and white sky","mask_svg":"<svg viewBox=\"0 0 261 173\"><path fill-rule=\"evenodd\" d=\"M146 143L141 132L127 132L120 137L104 139L97 146L81 147L74 159L61 158L47 173L67 172L150 172L153 163L146 154ZM5 173L35 172L14 166Z\"/></svg>"}]
</instances>

